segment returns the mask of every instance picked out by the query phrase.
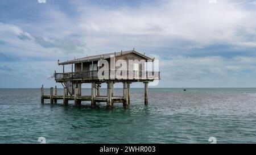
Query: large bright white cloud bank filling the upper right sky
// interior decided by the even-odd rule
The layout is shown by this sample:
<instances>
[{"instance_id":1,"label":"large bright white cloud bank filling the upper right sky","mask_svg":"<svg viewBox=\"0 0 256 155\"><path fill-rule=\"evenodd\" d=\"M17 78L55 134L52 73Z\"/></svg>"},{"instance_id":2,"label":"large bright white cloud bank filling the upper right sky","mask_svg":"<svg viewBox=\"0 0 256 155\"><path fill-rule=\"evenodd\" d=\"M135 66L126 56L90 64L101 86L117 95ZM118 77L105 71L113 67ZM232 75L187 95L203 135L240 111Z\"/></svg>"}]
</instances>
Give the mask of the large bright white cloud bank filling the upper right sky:
<instances>
[{"instance_id":1,"label":"large bright white cloud bank filling the upper right sky","mask_svg":"<svg viewBox=\"0 0 256 155\"><path fill-rule=\"evenodd\" d=\"M232 1L162 1L158 6L114 10L94 6L89 10L92 12L88 13L87 7L80 11L76 30L86 34L92 48L96 48L93 43L98 43L100 36L104 37L100 39L103 44L104 41L122 45L148 42L155 46L175 46L175 39L191 41L187 48L214 44L255 47L256 42L237 34L237 27L242 26L256 36L255 11Z\"/></svg>"}]
</instances>

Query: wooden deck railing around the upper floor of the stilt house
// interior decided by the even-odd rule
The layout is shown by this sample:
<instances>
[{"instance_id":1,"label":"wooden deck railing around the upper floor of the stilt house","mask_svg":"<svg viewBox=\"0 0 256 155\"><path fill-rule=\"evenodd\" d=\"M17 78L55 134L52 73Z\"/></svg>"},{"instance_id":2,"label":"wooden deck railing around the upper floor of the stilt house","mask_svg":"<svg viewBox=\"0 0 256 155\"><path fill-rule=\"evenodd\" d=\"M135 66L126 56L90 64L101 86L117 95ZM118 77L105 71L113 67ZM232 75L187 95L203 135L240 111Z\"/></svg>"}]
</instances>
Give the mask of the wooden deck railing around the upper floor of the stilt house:
<instances>
[{"instance_id":1,"label":"wooden deck railing around the upper floor of the stilt house","mask_svg":"<svg viewBox=\"0 0 256 155\"><path fill-rule=\"evenodd\" d=\"M109 70L108 78L111 70ZM115 70L115 75L127 74L126 79L160 79L160 72L149 72L149 71L135 71L135 70ZM69 73L55 73L55 80L68 80L68 79L98 79L98 71L86 71L86 72L69 72ZM115 78L118 78L115 76ZM106 77L105 77L106 79Z\"/></svg>"}]
</instances>

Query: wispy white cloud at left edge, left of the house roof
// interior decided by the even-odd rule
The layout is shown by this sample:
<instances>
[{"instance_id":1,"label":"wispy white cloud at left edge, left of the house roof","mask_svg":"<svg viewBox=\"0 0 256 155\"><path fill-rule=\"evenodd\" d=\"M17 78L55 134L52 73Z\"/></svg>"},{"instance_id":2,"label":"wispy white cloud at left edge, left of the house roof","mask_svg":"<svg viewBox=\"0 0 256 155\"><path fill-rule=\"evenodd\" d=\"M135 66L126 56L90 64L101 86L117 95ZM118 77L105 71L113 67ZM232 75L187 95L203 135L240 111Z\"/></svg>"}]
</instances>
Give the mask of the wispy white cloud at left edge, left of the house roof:
<instances>
[{"instance_id":1,"label":"wispy white cloud at left edge, left of the house roof","mask_svg":"<svg viewBox=\"0 0 256 155\"><path fill-rule=\"evenodd\" d=\"M68 38L56 39L31 35L13 24L0 22L0 53L20 57L63 58L63 53L82 54L87 50L86 43ZM7 52L6 52L7 51Z\"/></svg>"}]
</instances>

